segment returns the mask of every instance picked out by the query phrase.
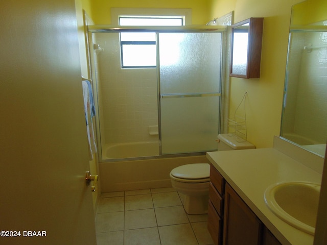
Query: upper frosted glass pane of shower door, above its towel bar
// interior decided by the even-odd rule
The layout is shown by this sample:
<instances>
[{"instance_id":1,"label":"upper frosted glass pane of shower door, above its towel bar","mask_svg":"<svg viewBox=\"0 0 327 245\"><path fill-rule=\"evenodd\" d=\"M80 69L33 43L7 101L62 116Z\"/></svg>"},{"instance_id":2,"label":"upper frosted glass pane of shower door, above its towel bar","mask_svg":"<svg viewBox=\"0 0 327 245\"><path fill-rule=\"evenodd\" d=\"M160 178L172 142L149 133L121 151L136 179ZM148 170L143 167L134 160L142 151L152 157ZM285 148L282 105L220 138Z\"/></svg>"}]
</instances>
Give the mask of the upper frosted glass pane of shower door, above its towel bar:
<instances>
[{"instance_id":1,"label":"upper frosted glass pane of shower door, above its towel bar","mask_svg":"<svg viewBox=\"0 0 327 245\"><path fill-rule=\"evenodd\" d=\"M160 33L161 93L220 91L221 33Z\"/></svg>"}]
</instances>

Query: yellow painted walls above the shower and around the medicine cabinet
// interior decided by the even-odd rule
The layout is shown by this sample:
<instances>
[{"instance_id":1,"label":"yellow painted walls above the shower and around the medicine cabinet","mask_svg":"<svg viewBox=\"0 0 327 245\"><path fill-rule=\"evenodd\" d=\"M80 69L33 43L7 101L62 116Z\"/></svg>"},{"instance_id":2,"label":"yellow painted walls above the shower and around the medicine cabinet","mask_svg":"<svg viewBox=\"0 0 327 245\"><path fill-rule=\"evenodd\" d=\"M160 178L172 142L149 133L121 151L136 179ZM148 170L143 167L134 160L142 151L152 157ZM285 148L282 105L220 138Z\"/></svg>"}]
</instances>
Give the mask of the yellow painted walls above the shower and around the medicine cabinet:
<instances>
[{"instance_id":1,"label":"yellow painted walls above the shower and around the medicine cabinet","mask_svg":"<svg viewBox=\"0 0 327 245\"><path fill-rule=\"evenodd\" d=\"M257 148L271 147L273 136L279 135L287 58L288 33L292 5L302 0L168 0L154 2L92 0L84 2L92 11L96 24L110 24L110 8L192 8L193 24L235 11L234 21L264 17L264 34L260 79L231 78L230 110L233 112L243 94L248 93L246 116L248 140ZM319 0L324 1L324 0ZM90 7L91 6L91 7Z\"/></svg>"}]
</instances>

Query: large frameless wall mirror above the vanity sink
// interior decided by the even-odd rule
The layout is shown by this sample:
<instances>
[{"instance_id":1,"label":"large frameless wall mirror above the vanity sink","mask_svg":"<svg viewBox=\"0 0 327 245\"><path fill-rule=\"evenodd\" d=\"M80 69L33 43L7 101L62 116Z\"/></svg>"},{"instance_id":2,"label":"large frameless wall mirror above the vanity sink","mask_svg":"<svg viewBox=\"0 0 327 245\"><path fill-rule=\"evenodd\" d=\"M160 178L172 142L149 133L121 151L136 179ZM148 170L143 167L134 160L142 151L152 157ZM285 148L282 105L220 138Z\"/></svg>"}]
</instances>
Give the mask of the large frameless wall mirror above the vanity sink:
<instances>
[{"instance_id":1,"label":"large frameless wall mirror above the vanity sink","mask_svg":"<svg viewBox=\"0 0 327 245\"><path fill-rule=\"evenodd\" d=\"M319 156L327 140L327 1L292 7L281 137Z\"/></svg>"}]
</instances>

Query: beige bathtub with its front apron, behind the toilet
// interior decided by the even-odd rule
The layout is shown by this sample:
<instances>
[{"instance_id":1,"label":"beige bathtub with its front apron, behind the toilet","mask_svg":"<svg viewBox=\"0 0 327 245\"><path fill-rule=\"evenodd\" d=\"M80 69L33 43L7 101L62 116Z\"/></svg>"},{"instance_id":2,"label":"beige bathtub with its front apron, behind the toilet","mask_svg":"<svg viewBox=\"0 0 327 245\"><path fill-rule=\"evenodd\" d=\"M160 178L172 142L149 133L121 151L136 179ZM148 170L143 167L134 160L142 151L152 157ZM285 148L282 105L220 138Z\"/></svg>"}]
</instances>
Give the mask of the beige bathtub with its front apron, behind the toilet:
<instances>
[{"instance_id":1,"label":"beige bathtub with its front apron, behind the toilet","mask_svg":"<svg viewBox=\"0 0 327 245\"><path fill-rule=\"evenodd\" d=\"M157 142L109 145L103 153L105 156L99 162L101 192L171 187L169 174L173 168L190 163L209 163L204 154L158 156ZM137 158L144 157L145 153L155 157Z\"/></svg>"}]
</instances>

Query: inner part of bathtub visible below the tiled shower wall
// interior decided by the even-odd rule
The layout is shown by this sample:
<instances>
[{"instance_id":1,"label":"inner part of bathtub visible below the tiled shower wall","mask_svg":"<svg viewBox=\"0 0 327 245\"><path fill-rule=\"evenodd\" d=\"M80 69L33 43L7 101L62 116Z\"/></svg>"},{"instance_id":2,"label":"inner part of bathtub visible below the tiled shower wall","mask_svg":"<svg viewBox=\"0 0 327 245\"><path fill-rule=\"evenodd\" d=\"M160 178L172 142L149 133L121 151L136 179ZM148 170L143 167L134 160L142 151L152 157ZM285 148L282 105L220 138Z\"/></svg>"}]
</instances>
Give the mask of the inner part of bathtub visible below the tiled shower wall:
<instances>
[{"instance_id":1,"label":"inner part of bathtub visible below the tiled shower wall","mask_svg":"<svg viewBox=\"0 0 327 245\"><path fill-rule=\"evenodd\" d=\"M158 142L132 142L108 145L102 159L121 159L159 155Z\"/></svg>"}]
</instances>

